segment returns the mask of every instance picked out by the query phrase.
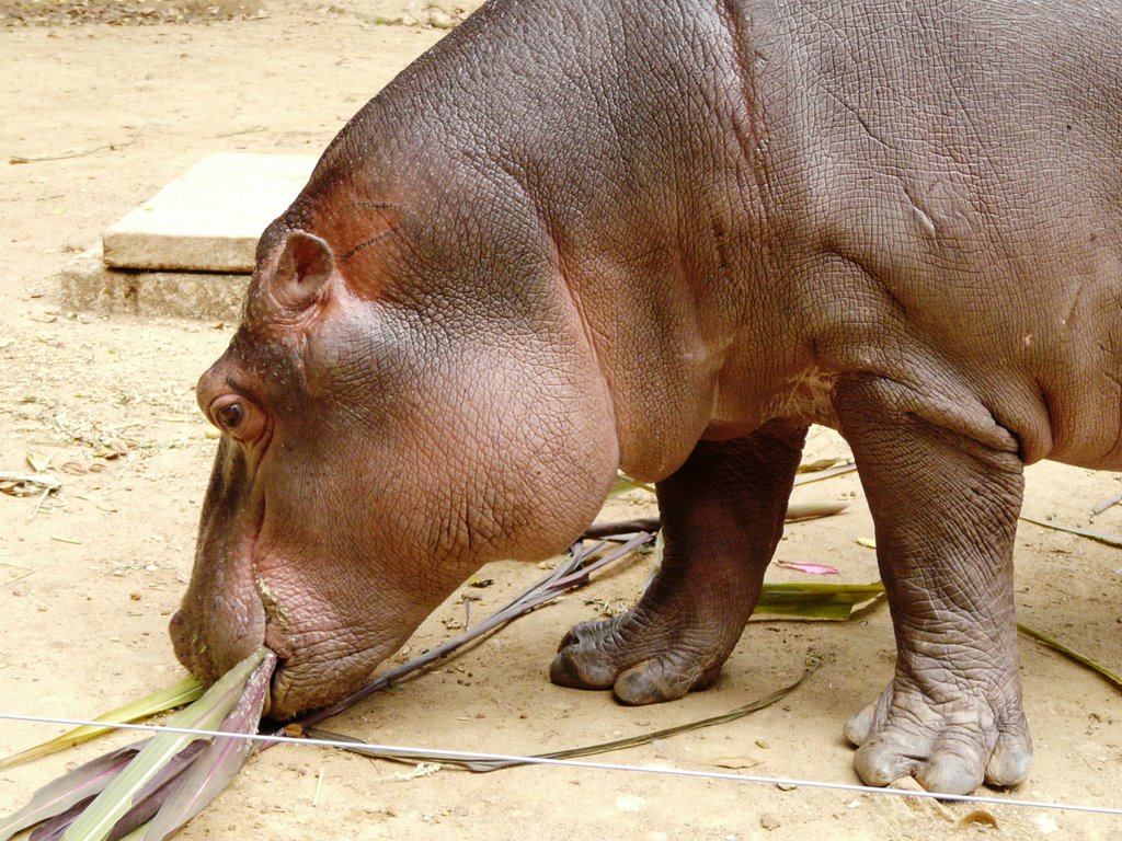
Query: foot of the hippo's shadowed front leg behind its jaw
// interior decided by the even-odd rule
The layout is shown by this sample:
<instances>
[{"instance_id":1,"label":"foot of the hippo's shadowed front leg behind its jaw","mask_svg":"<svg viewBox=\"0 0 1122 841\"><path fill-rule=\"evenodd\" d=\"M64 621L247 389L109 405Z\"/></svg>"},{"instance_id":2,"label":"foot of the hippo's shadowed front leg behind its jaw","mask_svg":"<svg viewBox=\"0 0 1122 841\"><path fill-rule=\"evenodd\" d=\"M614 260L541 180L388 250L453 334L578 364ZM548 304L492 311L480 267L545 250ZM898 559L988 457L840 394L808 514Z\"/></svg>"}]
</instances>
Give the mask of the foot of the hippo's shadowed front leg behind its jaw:
<instances>
[{"instance_id":1,"label":"foot of the hippo's shadowed front leg behind its jaw","mask_svg":"<svg viewBox=\"0 0 1122 841\"><path fill-rule=\"evenodd\" d=\"M560 686L613 688L625 704L653 704L708 688L727 656L702 632L669 629L633 609L570 630L550 666L550 680Z\"/></svg>"}]
</instances>

